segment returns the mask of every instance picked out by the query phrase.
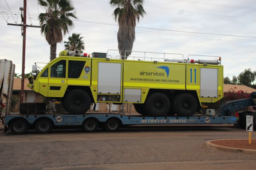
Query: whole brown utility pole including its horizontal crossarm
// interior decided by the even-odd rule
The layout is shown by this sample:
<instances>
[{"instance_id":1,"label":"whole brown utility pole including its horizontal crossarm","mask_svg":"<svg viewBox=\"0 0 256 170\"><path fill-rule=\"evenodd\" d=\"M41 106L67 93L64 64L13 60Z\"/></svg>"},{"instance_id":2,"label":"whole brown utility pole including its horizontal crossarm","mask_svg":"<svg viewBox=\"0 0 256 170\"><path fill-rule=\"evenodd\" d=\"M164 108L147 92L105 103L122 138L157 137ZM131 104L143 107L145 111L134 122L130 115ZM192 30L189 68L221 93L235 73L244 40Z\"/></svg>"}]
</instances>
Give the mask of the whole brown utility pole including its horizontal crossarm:
<instances>
[{"instance_id":1,"label":"whole brown utility pole including its horizontal crossarm","mask_svg":"<svg viewBox=\"0 0 256 170\"><path fill-rule=\"evenodd\" d=\"M26 27L35 27L40 28L40 26L28 26L26 24L26 17L27 17L27 0L23 1L23 7L20 7L21 11L21 21L22 24L10 24L10 26L21 26L21 35L23 38L23 45L22 45L22 72L21 72L21 89L20 89L20 103L24 102L24 77L25 77L25 56L26 56ZM22 16L22 11L23 16Z\"/></svg>"}]
</instances>

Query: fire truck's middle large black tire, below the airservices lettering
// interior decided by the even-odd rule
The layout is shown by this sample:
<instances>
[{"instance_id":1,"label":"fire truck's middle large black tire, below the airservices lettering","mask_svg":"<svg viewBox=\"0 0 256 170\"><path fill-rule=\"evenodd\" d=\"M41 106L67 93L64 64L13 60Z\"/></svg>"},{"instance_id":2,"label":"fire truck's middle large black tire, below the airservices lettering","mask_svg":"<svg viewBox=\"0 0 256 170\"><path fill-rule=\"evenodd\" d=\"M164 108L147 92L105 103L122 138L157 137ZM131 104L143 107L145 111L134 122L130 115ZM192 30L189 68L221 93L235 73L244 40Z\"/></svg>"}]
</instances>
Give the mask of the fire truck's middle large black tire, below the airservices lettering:
<instances>
[{"instance_id":1,"label":"fire truck's middle large black tire, below the airservices lettering","mask_svg":"<svg viewBox=\"0 0 256 170\"><path fill-rule=\"evenodd\" d=\"M154 117L164 116L170 109L170 100L163 93L152 93L145 103L146 113Z\"/></svg>"}]
</instances>

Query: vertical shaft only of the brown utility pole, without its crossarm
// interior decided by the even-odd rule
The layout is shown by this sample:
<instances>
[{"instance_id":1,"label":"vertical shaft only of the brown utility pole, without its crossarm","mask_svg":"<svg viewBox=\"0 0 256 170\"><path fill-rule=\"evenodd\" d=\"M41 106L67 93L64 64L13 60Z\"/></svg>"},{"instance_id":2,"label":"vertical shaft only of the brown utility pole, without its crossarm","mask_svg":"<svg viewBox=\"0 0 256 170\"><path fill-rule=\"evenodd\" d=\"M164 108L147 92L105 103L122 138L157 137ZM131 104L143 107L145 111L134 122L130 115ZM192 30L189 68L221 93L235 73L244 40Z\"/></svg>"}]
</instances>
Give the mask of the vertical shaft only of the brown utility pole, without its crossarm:
<instances>
[{"instance_id":1,"label":"vertical shaft only of the brown utility pole, without its crossarm","mask_svg":"<svg viewBox=\"0 0 256 170\"><path fill-rule=\"evenodd\" d=\"M22 71L21 71L21 89L20 89L20 103L24 103L24 75L25 75L25 52L26 52L26 18L27 18L27 0L24 0L24 17L23 17L23 45L22 45Z\"/></svg>"}]
</instances>

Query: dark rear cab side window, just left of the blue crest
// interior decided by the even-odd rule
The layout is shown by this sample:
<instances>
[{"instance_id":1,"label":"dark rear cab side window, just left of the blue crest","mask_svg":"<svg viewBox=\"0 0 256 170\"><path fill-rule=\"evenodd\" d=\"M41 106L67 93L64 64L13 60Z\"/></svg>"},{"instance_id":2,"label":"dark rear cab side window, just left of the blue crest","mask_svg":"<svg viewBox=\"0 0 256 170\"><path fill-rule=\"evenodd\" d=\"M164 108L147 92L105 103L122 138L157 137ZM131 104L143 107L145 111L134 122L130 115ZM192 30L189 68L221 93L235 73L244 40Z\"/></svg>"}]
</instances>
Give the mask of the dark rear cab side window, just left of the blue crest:
<instances>
[{"instance_id":1,"label":"dark rear cab side window, just left of the blue crest","mask_svg":"<svg viewBox=\"0 0 256 170\"><path fill-rule=\"evenodd\" d=\"M84 68L85 61L68 61L68 78L77 79L80 77Z\"/></svg>"}]
</instances>

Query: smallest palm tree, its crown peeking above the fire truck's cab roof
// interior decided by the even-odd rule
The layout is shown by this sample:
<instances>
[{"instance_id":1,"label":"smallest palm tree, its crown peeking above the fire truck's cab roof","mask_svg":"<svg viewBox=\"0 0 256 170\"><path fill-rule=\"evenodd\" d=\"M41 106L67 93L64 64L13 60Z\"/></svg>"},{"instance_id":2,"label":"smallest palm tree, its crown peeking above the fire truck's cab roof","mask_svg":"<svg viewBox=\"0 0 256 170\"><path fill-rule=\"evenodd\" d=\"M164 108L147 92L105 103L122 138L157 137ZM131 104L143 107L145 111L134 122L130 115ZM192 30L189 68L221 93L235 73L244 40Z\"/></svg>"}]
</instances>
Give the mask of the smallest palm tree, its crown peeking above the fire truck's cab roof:
<instances>
[{"instance_id":1,"label":"smallest palm tree, its crown peeking above the fire truck's cab roof","mask_svg":"<svg viewBox=\"0 0 256 170\"><path fill-rule=\"evenodd\" d=\"M73 33L72 36L68 37L68 42L64 42L65 50L74 51L75 49L82 50L84 49L84 41L80 37L81 34Z\"/></svg>"}]
</instances>

